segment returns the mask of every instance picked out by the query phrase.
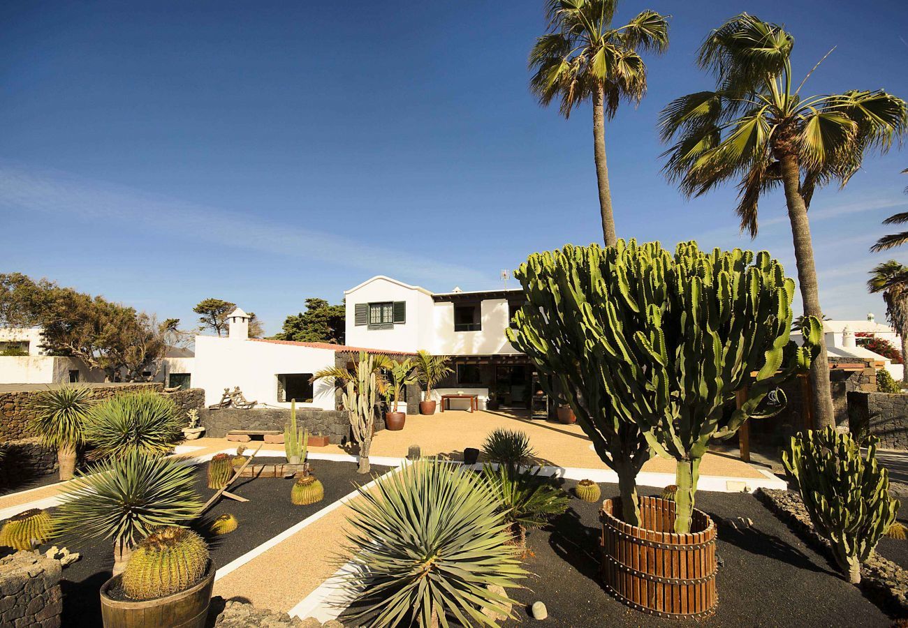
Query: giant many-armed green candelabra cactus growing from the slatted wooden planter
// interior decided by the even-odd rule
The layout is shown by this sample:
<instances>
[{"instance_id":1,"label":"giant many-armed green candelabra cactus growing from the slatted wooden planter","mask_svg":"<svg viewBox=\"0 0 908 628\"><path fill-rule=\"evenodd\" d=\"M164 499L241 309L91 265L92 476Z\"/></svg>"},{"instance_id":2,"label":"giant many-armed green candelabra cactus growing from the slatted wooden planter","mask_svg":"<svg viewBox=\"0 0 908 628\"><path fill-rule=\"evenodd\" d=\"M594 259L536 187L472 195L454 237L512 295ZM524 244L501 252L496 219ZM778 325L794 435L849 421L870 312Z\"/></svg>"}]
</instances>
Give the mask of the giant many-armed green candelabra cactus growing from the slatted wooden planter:
<instances>
[{"instance_id":1,"label":"giant many-armed green candelabra cactus growing from the slatted wooden planter","mask_svg":"<svg viewBox=\"0 0 908 628\"><path fill-rule=\"evenodd\" d=\"M789 339L795 283L765 251L684 242L672 254L618 240L532 255L515 276L528 303L508 339L568 391L623 502L650 447L676 460L678 533L690 529L710 438L733 435L766 393L808 368L821 333L807 317L804 348Z\"/></svg>"}]
</instances>

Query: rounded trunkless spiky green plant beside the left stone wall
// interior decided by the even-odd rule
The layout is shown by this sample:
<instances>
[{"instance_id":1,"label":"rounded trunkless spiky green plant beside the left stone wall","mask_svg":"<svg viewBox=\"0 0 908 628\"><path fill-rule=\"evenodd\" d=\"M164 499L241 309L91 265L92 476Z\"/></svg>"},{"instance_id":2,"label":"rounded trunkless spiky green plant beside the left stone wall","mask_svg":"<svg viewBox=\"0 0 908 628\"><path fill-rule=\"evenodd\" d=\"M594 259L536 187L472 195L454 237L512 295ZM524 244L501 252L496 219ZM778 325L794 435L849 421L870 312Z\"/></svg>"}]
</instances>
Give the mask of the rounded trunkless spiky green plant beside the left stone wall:
<instances>
[{"instance_id":1,"label":"rounded trunkless spiky green plant beside the left stone wall","mask_svg":"<svg viewBox=\"0 0 908 628\"><path fill-rule=\"evenodd\" d=\"M93 459L133 451L166 454L182 435L183 419L176 405L153 392L112 397L93 408L85 425L85 438L94 446Z\"/></svg>"}]
</instances>

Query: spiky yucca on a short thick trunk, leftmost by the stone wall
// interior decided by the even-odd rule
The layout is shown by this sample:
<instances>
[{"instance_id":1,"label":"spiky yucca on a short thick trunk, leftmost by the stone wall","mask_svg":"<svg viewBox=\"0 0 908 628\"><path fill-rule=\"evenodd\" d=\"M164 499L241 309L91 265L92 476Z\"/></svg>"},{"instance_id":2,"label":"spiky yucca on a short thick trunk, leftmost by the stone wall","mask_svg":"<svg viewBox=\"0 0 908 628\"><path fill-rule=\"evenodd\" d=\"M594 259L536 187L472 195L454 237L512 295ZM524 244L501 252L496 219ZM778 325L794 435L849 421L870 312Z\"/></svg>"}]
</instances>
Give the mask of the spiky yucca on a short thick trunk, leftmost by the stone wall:
<instances>
[{"instance_id":1,"label":"spiky yucca on a short thick trunk, leftmost by the stone wall","mask_svg":"<svg viewBox=\"0 0 908 628\"><path fill-rule=\"evenodd\" d=\"M42 390L31 404L32 429L45 446L56 449L61 480L73 477L91 408L91 389L74 386Z\"/></svg>"}]
</instances>

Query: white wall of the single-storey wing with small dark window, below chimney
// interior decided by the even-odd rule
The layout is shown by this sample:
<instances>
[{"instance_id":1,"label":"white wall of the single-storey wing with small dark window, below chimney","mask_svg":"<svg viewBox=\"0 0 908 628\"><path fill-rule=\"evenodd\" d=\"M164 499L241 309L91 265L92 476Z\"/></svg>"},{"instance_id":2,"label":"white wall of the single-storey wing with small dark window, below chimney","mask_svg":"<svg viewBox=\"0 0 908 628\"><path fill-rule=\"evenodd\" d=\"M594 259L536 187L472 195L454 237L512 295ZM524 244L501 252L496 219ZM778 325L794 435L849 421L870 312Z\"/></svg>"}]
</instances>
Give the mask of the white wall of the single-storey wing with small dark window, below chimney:
<instances>
[{"instance_id":1,"label":"white wall of the single-storey wing with small dark window, below chimney","mask_svg":"<svg viewBox=\"0 0 908 628\"><path fill-rule=\"evenodd\" d=\"M186 358L183 358L186 359ZM249 401L271 407L290 407L278 401L278 375L314 373L334 365L334 351L324 348L283 345L257 340L195 338L192 388L205 389L205 405L221 401L224 388L239 386ZM297 407L334 409L334 382L319 380L313 385L313 402Z\"/></svg>"}]
</instances>

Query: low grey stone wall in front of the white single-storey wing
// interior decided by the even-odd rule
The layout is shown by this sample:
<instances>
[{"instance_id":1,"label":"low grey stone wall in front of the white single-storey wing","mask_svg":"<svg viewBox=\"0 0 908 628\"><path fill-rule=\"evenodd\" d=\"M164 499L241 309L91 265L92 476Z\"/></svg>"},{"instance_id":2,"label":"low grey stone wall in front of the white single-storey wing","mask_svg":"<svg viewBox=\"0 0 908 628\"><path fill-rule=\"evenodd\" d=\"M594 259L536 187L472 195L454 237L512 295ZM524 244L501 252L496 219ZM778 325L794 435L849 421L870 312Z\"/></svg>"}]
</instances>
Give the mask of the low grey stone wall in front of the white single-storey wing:
<instances>
[{"instance_id":1,"label":"low grey stone wall in front of the white single-storey wing","mask_svg":"<svg viewBox=\"0 0 908 628\"><path fill-rule=\"evenodd\" d=\"M282 407L255 407L242 410L235 407L206 408L199 413L205 436L223 438L232 429L279 429L290 421L290 410ZM301 429L310 434L328 437L334 445L350 441L350 414L343 410L296 410L296 421ZM384 429L384 421L376 422L375 429Z\"/></svg>"}]
</instances>

